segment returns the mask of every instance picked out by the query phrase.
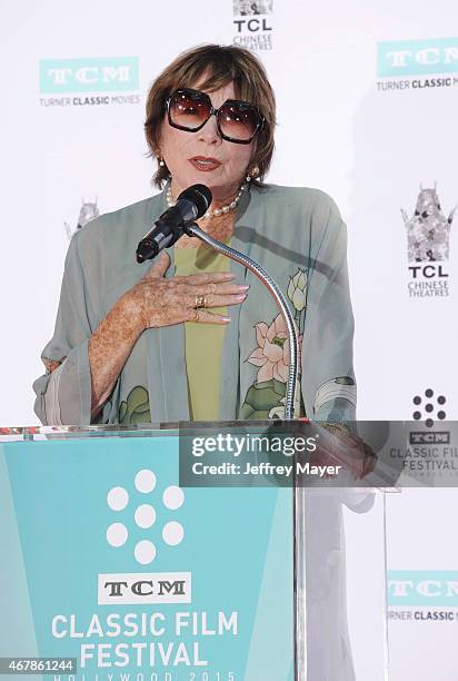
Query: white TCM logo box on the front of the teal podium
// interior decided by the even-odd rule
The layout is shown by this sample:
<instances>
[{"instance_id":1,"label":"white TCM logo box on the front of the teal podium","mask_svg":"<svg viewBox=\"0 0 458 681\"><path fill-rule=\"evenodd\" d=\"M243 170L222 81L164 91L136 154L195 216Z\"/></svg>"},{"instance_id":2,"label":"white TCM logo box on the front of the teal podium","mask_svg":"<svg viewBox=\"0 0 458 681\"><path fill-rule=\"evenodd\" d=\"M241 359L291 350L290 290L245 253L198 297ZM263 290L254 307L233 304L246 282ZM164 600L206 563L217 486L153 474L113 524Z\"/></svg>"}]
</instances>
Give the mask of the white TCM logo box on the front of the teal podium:
<instances>
[{"instance_id":1,"label":"white TCM logo box on the front of the teal podium","mask_svg":"<svg viewBox=\"0 0 458 681\"><path fill-rule=\"evenodd\" d=\"M190 572L99 574L99 605L190 602Z\"/></svg>"}]
</instances>

